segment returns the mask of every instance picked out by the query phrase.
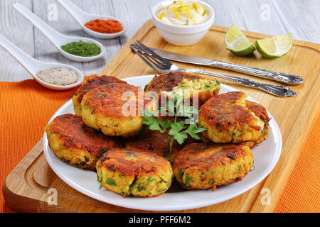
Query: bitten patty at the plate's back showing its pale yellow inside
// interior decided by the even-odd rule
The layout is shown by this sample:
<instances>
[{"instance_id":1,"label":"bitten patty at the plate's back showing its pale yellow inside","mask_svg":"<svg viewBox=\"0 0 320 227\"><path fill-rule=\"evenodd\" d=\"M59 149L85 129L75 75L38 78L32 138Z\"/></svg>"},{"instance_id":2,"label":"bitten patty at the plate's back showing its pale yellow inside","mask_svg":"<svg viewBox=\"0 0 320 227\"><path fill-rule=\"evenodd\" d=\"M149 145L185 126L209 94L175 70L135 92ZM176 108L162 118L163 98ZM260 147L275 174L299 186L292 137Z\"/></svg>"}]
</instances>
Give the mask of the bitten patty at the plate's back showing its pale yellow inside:
<instances>
[{"instance_id":1,"label":"bitten patty at the plate's back showing its pale yellow inside","mask_svg":"<svg viewBox=\"0 0 320 227\"><path fill-rule=\"evenodd\" d=\"M200 106L210 97L217 96L219 90L218 80L211 81L186 72L171 72L156 76L146 87L146 92L155 92L160 99L162 94L170 96L171 92L189 97L192 101L197 97Z\"/></svg>"}]
</instances>

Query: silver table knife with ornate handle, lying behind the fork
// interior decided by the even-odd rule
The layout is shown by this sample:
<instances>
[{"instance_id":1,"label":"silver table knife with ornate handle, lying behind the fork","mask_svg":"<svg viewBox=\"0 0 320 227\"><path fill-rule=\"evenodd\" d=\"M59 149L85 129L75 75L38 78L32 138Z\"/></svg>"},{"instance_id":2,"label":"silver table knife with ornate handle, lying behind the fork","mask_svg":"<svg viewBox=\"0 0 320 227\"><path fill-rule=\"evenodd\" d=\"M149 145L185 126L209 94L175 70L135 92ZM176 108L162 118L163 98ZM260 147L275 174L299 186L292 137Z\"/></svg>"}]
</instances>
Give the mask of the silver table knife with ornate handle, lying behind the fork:
<instances>
[{"instance_id":1,"label":"silver table knife with ornate handle, lying behind the fork","mask_svg":"<svg viewBox=\"0 0 320 227\"><path fill-rule=\"evenodd\" d=\"M262 70L254 67L247 67L244 65L235 65L233 63L222 62L220 60L211 60L203 57L193 57L190 55L181 55L176 52L169 52L165 50L158 50L155 48L150 48L154 50L158 55L164 57L168 60L174 60L177 62L191 63L195 65L206 65L211 67L218 67L225 70L232 70L235 72L243 72L245 74L250 74L252 76L262 77L265 79L272 79L284 84L302 84L304 79L294 74L287 74L282 72L273 72L271 70Z\"/></svg>"}]
</instances>

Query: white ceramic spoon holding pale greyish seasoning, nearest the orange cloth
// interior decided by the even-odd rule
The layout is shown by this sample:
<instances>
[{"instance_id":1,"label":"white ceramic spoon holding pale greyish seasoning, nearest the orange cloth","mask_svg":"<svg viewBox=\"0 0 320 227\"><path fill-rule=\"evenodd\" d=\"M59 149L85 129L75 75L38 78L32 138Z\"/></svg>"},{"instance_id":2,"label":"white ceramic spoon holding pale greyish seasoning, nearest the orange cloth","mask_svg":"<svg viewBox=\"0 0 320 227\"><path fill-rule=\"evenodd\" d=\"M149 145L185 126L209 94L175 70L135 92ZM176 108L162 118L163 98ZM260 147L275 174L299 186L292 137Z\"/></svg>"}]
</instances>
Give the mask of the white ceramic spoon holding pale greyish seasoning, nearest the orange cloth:
<instances>
[{"instance_id":1,"label":"white ceramic spoon holding pale greyish seasoning, nearest the orange cloth","mask_svg":"<svg viewBox=\"0 0 320 227\"><path fill-rule=\"evenodd\" d=\"M47 62L41 62L39 60L34 59L30 55L26 54L26 52L23 52L20 48L18 48L14 43L11 43L9 40L4 38L3 35L0 35L0 45L4 50L9 52L12 57L14 57L32 76L34 79L36 79L36 82L41 84L43 87L46 87L48 89L53 90L67 90L72 89L73 87L77 87L83 82L83 74L79 70L77 70L75 67L72 67L70 65L64 65L64 64L58 64L58 63L47 63ZM40 72L42 70L48 70L52 68L67 68L74 70L78 74L78 82L75 82L75 84L65 85L65 86L58 86L53 84L48 84L46 82L43 82L41 79L39 79L36 74L37 72Z\"/></svg>"}]
</instances>

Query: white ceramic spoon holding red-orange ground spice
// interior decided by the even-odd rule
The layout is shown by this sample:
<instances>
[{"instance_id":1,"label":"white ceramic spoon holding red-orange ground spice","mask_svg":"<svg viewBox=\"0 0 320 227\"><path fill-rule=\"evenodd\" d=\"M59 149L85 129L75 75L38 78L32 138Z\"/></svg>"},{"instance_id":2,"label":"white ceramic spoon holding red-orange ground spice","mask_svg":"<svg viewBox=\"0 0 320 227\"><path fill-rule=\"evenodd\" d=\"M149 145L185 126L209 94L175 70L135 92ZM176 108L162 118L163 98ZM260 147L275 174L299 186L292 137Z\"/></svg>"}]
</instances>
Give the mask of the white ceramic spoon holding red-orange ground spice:
<instances>
[{"instance_id":1,"label":"white ceramic spoon holding red-orange ground spice","mask_svg":"<svg viewBox=\"0 0 320 227\"><path fill-rule=\"evenodd\" d=\"M126 28L124 26L124 23L120 21L118 18L114 18L112 16L99 16L99 15L94 15L87 13L85 11L82 11L78 6L73 4L70 0L57 0L63 8L65 8L66 11L70 13L73 18L75 18L75 21L79 23L79 25L82 27L82 29L89 35L95 36L97 38L116 38L119 35L122 35L123 33L126 32ZM96 19L102 19L102 20L114 20L114 21L119 21L121 23L123 31L120 31L119 33L97 33L95 31L90 30L89 28L85 27L85 23L89 21L93 21Z\"/></svg>"}]
</instances>

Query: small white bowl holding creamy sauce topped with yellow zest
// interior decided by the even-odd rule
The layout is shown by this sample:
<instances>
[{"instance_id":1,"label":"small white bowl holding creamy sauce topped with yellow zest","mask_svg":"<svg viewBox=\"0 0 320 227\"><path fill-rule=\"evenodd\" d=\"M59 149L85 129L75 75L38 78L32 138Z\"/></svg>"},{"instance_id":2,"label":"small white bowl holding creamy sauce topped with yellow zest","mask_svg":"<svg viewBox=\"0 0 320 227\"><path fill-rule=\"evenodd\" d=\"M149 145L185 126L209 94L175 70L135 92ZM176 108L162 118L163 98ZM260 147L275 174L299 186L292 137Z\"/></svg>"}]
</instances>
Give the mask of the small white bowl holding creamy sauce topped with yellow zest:
<instances>
[{"instance_id":1,"label":"small white bowl holding creamy sauce topped with yellow zest","mask_svg":"<svg viewBox=\"0 0 320 227\"><path fill-rule=\"evenodd\" d=\"M156 4L152 9L152 21L158 29L160 35L164 40L173 45L193 45L198 43L204 35L208 32L209 28L213 25L215 18L215 11L212 7L203 1L194 1L201 6L208 9L210 18L205 23L197 24L196 26L176 26L164 21L159 20L156 16L161 9L169 6L173 1L161 1Z\"/></svg>"}]
</instances>

